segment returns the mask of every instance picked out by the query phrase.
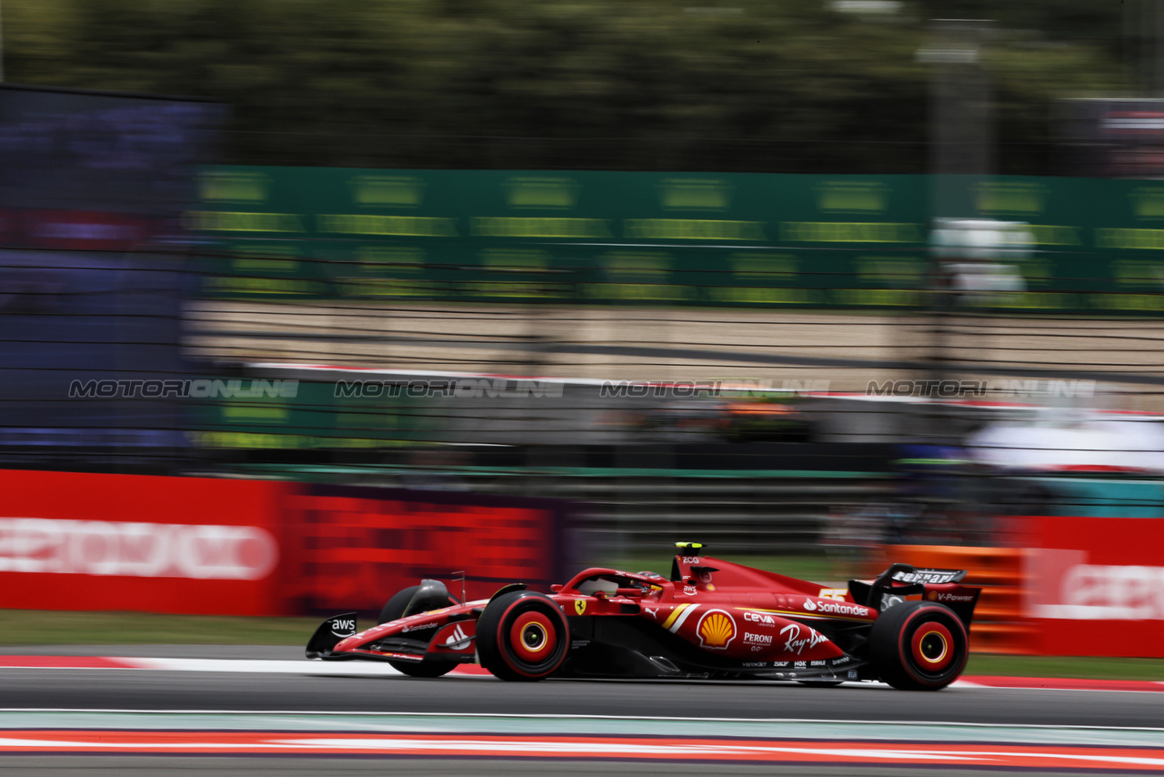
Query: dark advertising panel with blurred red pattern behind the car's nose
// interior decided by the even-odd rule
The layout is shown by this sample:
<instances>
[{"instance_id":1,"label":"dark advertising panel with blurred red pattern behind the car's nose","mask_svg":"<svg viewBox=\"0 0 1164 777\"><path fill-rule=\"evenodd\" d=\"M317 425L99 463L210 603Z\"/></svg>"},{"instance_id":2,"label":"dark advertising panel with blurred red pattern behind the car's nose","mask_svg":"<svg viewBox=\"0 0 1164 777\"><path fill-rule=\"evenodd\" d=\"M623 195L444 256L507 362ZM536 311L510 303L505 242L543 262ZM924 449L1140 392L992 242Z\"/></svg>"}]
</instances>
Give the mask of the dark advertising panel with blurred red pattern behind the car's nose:
<instances>
[{"instance_id":1,"label":"dark advertising panel with blurred red pattern behind the car's nose","mask_svg":"<svg viewBox=\"0 0 1164 777\"><path fill-rule=\"evenodd\" d=\"M305 486L291 500L290 594L301 609L379 612L398 589L434 578L460 598L509 582L561 582L563 502L460 492Z\"/></svg>"}]
</instances>

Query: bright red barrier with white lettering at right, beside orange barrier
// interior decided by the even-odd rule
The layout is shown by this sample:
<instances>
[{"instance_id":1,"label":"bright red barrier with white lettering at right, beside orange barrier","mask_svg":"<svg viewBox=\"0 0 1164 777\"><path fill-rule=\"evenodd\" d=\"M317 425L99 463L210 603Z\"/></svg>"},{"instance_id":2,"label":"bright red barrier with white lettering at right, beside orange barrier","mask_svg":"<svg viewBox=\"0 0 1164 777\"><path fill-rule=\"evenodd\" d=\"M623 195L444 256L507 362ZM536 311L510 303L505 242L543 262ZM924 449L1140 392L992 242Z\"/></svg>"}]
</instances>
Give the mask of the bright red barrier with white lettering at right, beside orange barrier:
<instances>
[{"instance_id":1,"label":"bright red barrier with white lettering at right, beside orange barrier","mask_svg":"<svg viewBox=\"0 0 1164 777\"><path fill-rule=\"evenodd\" d=\"M1164 520L1027 521L1027 610L1039 652L1164 657Z\"/></svg>"}]
</instances>

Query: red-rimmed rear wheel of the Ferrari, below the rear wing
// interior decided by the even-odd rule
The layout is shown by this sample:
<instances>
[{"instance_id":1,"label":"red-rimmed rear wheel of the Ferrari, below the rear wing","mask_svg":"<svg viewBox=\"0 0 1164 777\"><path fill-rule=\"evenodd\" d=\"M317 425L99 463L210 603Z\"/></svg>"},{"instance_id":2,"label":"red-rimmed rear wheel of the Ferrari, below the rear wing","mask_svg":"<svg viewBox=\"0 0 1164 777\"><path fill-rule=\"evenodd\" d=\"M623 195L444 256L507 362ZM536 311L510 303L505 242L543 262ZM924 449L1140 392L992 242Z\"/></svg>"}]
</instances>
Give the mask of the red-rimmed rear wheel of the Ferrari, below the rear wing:
<instances>
[{"instance_id":1,"label":"red-rimmed rear wheel of the Ferrari, below the rear wing","mask_svg":"<svg viewBox=\"0 0 1164 777\"><path fill-rule=\"evenodd\" d=\"M894 605L874 621L870 656L878 674L893 687L938 691L965 669L970 637L949 607L907 601Z\"/></svg>"}]
</instances>

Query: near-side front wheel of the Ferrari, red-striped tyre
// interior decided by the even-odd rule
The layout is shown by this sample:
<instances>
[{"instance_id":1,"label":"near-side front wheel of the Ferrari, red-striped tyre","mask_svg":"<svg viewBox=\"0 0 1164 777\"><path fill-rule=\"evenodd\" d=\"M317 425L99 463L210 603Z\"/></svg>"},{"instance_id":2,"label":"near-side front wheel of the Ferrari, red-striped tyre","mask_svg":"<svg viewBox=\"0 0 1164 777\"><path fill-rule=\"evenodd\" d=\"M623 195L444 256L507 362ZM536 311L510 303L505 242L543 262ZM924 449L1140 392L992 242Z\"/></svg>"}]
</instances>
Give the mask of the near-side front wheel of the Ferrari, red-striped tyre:
<instances>
[{"instance_id":1,"label":"near-side front wheel of the Ferrari, red-striped tyre","mask_svg":"<svg viewBox=\"0 0 1164 777\"><path fill-rule=\"evenodd\" d=\"M570 630L554 600L516 591L489 602L477 620L481 664L503 680L540 680L566 661Z\"/></svg>"}]
</instances>

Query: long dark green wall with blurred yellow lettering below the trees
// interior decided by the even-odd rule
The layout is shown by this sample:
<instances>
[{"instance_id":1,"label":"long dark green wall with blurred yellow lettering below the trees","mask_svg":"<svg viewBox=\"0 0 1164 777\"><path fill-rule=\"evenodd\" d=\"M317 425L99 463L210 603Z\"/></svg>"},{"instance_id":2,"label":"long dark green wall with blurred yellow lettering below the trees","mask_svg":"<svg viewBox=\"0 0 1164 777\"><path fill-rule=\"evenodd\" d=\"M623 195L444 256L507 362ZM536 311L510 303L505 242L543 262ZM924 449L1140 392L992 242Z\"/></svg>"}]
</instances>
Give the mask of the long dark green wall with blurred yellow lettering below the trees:
<instances>
[{"instance_id":1,"label":"long dark green wall with blurred yellow lettering below the trees","mask_svg":"<svg viewBox=\"0 0 1164 777\"><path fill-rule=\"evenodd\" d=\"M199 181L184 222L221 254L208 298L931 304L927 176L218 167ZM999 260L1017 288L967 304L1164 310L1164 185L952 181L957 212L1025 222L1035 243Z\"/></svg>"}]
</instances>

